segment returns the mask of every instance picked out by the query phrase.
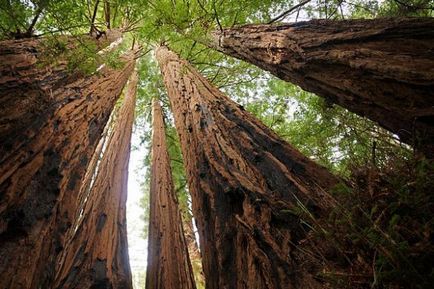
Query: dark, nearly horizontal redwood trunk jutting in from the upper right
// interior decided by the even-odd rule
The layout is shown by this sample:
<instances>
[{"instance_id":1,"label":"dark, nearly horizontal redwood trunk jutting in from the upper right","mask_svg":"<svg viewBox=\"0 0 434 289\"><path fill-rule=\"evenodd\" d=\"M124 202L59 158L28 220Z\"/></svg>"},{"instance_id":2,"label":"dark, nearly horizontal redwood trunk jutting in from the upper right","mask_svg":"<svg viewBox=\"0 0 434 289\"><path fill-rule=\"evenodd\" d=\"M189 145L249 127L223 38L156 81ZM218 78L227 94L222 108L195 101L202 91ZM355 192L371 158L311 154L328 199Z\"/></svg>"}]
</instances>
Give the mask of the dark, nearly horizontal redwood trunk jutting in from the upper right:
<instances>
[{"instance_id":1,"label":"dark, nearly horizontal redwood trunk jutting in from the upper right","mask_svg":"<svg viewBox=\"0 0 434 289\"><path fill-rule=\"evenodd\" d=\"M434 157L434 19L247 25L215 49L378 122Z\"/></svg>"}]
</instances>

